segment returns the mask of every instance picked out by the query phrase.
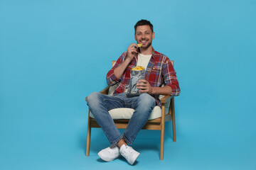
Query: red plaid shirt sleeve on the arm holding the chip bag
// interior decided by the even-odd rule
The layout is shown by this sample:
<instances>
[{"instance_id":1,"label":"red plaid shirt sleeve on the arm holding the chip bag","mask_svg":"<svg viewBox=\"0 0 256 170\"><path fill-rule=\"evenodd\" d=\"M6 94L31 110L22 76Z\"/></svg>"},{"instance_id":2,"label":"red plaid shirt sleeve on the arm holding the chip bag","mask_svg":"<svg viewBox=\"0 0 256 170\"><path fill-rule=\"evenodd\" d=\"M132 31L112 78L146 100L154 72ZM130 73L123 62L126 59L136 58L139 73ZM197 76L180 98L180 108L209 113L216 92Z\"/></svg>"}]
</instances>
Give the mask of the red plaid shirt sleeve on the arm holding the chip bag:
<instances>
[{"instance_id":1,"label":"red plaid shirt sleeve on the arm holding the chip bag","mask_svg":"<svg viewBox=\"0 0 256 170\"><path fill-rule=\"evenodd\" d=\"M166 57L166 59L164 60L162 70L166 86L171 87L171 96L178 96L181 93L181 89L178 85L178 79L176 77L174 67L168 57Z\"/></svg>"}]
</instances>

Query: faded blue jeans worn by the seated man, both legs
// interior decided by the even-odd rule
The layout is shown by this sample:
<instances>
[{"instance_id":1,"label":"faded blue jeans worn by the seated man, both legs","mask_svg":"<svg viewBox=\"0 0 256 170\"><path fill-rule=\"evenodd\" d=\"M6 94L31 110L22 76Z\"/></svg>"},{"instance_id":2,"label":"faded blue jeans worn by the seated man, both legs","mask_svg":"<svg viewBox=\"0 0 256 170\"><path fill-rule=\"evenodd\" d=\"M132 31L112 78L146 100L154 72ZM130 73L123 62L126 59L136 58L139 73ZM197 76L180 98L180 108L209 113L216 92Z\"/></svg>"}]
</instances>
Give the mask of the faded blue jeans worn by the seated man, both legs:
<instances>
[{"instance_id":1,"label":"faded blue jeans worn by the seated man, both legs","mask_svg":"<svg viewBox=\"0 0 256 170\"><path fill-rule=\"evenodd\" d=\"M111 145L119 142L122 138L127 144L132 145L137 133L146 124L151 111L156 105L156 101L149 94L127 98L126 93L108 96L94 92L88 96L87 105ZM114 125L114 120L111 118L110 113L108 113L113 108L133 108L135 110L122 135L117 126Z\"/></svg>"}]
</instances>

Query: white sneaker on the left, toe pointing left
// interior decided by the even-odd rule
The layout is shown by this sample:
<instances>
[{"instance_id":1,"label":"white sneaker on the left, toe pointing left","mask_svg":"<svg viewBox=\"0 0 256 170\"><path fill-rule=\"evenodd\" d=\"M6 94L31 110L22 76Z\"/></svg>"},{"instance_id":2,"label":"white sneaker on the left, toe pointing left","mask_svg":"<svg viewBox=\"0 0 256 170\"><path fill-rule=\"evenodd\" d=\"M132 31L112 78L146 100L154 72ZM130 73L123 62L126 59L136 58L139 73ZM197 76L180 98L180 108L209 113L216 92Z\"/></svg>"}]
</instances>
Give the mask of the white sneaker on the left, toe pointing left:
<instances>
[{"instance_id":1,"label":"white sneaker on the left, toe pointing left","mask_svg":"<svg viewBox=\"0 0 256 170\"><path fill-rule=\"evenodd\" d=\"M117 145L112 145L106 149L102 149L98 155L105 162L112 162L114 159L117 159L121 156L119 150L120 149L117 147Z\"/></svg>"}]
</instances>

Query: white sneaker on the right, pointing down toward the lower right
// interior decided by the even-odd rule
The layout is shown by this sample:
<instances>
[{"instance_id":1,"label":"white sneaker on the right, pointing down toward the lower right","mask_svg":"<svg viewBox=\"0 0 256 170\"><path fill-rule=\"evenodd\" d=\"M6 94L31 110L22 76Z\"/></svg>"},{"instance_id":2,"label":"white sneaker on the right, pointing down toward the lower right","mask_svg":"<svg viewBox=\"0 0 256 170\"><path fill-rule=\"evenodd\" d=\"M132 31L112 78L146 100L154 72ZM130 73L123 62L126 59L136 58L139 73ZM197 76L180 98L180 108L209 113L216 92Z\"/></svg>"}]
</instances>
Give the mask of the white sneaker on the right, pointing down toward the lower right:
<instances>
[{"instance_id":1,"label":"white sneaker on the right, pointing down toward the lower right","mask_svg":"<svg viewBox=\"0 0 256 170\"><path fill-rule=\"evenodd\" d=\"M122 147L120 147L120 153L121 153L122 157L127 159L127 162L129 162L129 164L131 164L131 165L134 164L137 157L139 157L139 152L132 149L132 147L125 146L125 145L122 145Z\"/></svg>"}]
</instances>

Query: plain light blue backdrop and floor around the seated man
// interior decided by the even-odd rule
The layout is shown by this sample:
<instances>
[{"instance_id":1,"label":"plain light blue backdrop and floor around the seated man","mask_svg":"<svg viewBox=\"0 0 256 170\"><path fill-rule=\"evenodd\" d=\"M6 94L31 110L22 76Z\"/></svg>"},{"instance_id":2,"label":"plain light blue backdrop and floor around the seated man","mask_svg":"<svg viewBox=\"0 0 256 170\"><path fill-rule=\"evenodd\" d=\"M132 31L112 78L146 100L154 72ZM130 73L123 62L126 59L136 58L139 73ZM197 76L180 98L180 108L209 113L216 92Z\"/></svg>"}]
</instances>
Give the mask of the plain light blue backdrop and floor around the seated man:
<instances>
[{"instance_id":1,"label":"plain light blue backdrop and floor around the seated man","mask_svg":"<svg viewBox=\"0 0 256 170\"><path fill-rule=\"evenodd\" d=\"M256 169L256 1L0 0L0 169ZM110 62L154 24L154 48L175 62L177 142L166 123L142 130L124 159L92 130L85 96L107 84Z\"/></svg>"}]
</instances>

